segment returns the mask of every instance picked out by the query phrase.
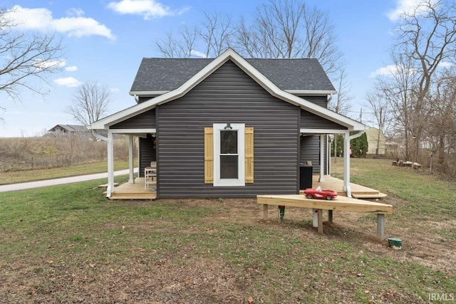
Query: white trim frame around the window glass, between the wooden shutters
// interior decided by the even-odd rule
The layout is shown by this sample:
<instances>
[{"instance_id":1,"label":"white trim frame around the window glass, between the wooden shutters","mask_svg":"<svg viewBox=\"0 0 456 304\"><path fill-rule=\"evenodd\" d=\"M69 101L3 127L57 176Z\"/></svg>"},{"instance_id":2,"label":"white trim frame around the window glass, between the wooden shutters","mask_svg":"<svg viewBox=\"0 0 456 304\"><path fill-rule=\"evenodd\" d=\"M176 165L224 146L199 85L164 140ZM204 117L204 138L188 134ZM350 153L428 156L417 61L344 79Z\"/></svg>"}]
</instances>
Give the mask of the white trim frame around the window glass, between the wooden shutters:
<instances>
[{"instance_id":1,"label":"white trim frame around the window glass, between the wooden shutters","mask_svg":"<svg viewBox=\"0 0 456 304\"><path fill-rule=\"evenodd\" d=\"M237 179L221 179L220 178L220 131L224 130L226 123L214 123L212 125L214 130L214 187L227 187L227 186L245 186L245 142L244 132L245 124L233 123L231 124L232 130L237 130Z\"/></svg>"}]
</instances>

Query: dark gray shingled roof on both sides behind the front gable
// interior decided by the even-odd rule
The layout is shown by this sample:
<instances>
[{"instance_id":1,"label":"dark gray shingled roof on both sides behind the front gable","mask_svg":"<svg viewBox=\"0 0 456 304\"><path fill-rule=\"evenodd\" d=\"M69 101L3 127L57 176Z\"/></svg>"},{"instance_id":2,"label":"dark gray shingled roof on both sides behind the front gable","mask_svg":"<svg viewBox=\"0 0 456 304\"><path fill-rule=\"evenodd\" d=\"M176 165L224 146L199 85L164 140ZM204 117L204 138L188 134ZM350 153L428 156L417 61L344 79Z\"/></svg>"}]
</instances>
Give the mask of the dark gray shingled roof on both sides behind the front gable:
<instances>
[{"instance_id":1,"label":"dark gray shingled roof on both sides behind the front gable","mask_svg":"<svg viewBox=\"0 0 456 304\"><path fill-rule=\"evenodd\" d=\"M336 93L317 59L245 60L281 90L310 95ZM175 90L212 61L212 58L142 58L130 95L159 95Z\"/></svg>"}]
</instances>

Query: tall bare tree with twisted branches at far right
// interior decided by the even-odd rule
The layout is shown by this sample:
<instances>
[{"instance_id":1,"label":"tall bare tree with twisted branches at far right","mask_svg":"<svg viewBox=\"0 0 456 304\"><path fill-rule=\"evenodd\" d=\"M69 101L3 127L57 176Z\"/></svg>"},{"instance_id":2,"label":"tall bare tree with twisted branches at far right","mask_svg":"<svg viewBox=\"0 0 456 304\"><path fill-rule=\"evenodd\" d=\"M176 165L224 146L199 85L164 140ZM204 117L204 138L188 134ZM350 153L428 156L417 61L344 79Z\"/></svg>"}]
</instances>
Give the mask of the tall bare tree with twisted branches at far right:
<instances>
[{"instance_id":1,"label":"tall bare tree with twisted branches at far right","mask_svg":"<svg viewBox=\"0 0 456 304\"><path fill-rule=\"evenodd\" d=\"M452 0L422 0L401 16L393 53L412 61L417 75L414 86L413 136L418 159L425 110L441 63L456 61L456 6Z\"/></svg>"}]
</instances>

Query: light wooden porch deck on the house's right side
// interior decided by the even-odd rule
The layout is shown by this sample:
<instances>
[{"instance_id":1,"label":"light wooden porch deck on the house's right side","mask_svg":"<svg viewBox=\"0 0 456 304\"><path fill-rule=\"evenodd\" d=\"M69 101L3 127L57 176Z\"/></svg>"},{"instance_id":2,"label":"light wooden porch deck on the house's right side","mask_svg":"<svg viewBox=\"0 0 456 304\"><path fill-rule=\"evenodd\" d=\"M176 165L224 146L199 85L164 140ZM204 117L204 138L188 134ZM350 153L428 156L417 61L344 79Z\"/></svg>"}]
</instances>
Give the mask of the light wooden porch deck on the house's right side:
<instances>
[{"instance_id":1,"label":"light wooden porch deck on the house's right side","mask_svg":"<svg viewBox=\"0 0 456 304\"><path fill-rule=\"evenodd\" d=\"M325 175L324 182L318 182L318 175L314 175L312 179L312 188L316 188L318 186L321 189L331 189L338 193L339 196L347 196L347 192L343 190L343 180L338 179L336 177L330 177L329 175ZM379 192L378 190L371 189L368 187L361 186L359 184L350 183L351 187L351 196L356 199L383 199L386 197L386 194ZM299 192L300 194L304 194L304 190Z\"/></svg>"}]
</instances>

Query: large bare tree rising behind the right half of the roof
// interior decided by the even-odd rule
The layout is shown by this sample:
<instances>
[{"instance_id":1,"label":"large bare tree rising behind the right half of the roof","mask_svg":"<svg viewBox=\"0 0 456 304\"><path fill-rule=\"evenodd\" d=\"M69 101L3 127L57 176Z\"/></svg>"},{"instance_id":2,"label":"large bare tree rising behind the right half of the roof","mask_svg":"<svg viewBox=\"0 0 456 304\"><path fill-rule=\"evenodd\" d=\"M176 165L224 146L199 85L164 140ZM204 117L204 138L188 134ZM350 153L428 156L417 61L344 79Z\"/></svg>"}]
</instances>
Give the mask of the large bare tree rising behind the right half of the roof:
<instances>
[{"instance_id":1,"label":"large bare tree rising behind the right half of the roof","mask_svg":"<svg viewBox=\"0 0 456 304\"><path fill-rule=\"evenodd\" d=\"M255 58L317 58L329 75L341 67L327 12L299 0L269 0L257 8L251 24L237 26L236 46Z\"/></svg>"}]
</instances>

